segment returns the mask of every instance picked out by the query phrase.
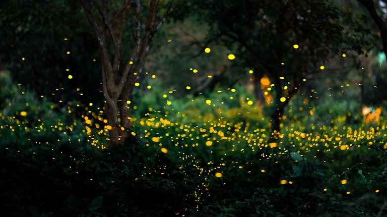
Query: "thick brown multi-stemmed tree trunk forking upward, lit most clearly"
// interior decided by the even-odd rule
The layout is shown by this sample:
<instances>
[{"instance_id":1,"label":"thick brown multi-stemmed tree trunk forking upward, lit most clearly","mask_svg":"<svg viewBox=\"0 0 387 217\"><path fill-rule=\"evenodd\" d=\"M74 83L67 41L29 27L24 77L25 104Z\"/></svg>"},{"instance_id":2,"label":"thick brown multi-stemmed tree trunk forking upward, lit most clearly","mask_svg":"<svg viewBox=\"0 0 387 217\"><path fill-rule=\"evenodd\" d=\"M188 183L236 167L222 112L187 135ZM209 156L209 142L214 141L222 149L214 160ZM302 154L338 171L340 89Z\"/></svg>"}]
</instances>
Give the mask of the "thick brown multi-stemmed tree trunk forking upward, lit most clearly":
<instances>
[{"instance_id":1,"label":"thick brown multi-stemmed tree trunk forking upward, lit most clearly","mask_svg":"<svg viewBox=\"0 0 387 217\"><path fill-rule=\"evenodd\" d=\"M157 21L159 0L150 0L146 23L143 25L140 0L124 0L122 6L118 8L118 12L113 17L109 17L108 9L112 9L111 5L108 6L109 1L82 0L87 20L101 50L102 89L105 98L106 119L108 121L106 127L109 131L111 146L125 144L125 140L130 134L129 100L134 84L141 76L142 67L148 55L154 34L181 1L176 0L171 3L161 20ZM120 62L123 59L121 45L126 24L126 11L130 8L130 4L135 4L135 22L133 22L136 24L135 34L133 34L134 46L129 58L125 57L126 66L120 71ZM99 18L93 12L95 7L100 15ZM120 16L119 24L113 25L112 22ZM107 39L110 39L109 42L113 45L113 51L109 51ZM114 58L112 59L112 57Z\"/></svg>"}]
</instances>

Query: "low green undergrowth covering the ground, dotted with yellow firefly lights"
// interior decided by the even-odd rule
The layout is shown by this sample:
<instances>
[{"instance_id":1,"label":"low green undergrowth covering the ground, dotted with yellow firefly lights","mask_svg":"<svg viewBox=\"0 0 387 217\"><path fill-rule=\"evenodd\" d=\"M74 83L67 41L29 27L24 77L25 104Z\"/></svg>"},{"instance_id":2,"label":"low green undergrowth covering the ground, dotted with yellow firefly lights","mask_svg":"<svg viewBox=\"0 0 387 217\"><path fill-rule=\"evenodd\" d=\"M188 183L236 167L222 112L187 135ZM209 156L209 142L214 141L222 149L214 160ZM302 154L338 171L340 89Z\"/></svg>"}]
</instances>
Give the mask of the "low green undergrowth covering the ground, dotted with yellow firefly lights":
<instances>
[{"instance_id":1,"label":"low green undergrowth covering the ground, dotted with yellow firefly lights","mask_svg":"<svg viewBox=\"0 0 387 217\"><path fill-rule=\"evenodd\" d=\"M151 83L133 105L127 144L110 148L102 109L54 104L12 84L5 72L0 82L10 90L1 91L3 213L387 213L385 108L333 100L316 105L300 95L282 116L279 139L268 143L272 108L250 104L244 87L178 99Z\"/></svg>"}]
</instances>

